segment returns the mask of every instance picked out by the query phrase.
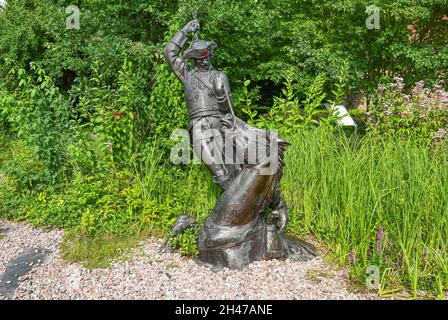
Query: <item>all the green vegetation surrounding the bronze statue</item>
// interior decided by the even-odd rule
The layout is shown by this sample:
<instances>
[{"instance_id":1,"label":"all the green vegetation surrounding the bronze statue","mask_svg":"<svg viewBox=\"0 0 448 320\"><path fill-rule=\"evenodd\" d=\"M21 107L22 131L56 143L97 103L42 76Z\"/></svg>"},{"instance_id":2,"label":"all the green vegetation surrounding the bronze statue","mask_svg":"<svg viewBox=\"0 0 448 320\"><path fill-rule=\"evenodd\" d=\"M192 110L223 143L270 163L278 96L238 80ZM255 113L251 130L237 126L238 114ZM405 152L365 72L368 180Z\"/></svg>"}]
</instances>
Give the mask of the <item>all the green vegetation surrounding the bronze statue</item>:
<instances>
[{"instance_id":1,"label":"all the green vegetation surrounding the bronze statue","mask_svg":"<svg viewBox=\"0 0 448 320\"><path fill-rule=\"evenodd\" d=\"M70 4L0 9L0 218L66 228L67 256L90 262L96 239L110 256L180 214L203 221L220 191L204 167L169 161L188 117L161 54L198 10L238 115L292 142L289 232L321 241L355 282L379 266L380 293L443 297L448 1L84 0L67 29ZM372 4L379 30L365 25ZM355 138L322 107L352 94L368 101L351 110ZM197 232L172 245L196 254Z\"/></svg>"}]
</instances>

